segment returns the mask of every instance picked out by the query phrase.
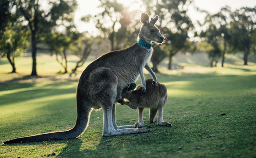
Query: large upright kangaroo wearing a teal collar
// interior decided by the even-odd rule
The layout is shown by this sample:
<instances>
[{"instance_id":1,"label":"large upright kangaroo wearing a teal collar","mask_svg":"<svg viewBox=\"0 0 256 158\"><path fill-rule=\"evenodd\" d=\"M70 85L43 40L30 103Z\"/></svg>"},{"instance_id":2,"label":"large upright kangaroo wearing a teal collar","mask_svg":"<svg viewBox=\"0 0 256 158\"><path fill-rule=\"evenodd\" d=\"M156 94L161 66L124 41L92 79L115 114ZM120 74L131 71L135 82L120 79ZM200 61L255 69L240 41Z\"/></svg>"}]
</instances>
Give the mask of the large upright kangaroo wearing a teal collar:
<instances>
[{"instance_id":1,"label":"large upright kangaroo wearing a teal collar","mask_svg":"<svg viewBox=\"0 0 256 158\"><path fill-rule=\"evenodd\" d=\"M81 135L87 128L92 109L103 111L103 136L135 134L150 132L148 129L118 127L115 122L115 103L122 99L122 90L134 83L141 76L142 92L145 93L145 78L143 68L153 77L153 85L157 85L157 78L150 68L148 61L152 56L152 42L163 43L164 36L154 25L159 16L151 18L141 14L141 30L139 42L127 49L106 53L83 71L77 86L77 120L75 126L67 131L46 133L16 138L4 142L37 142L52 139L69 139Z\"/></svg>"}]
</instances>

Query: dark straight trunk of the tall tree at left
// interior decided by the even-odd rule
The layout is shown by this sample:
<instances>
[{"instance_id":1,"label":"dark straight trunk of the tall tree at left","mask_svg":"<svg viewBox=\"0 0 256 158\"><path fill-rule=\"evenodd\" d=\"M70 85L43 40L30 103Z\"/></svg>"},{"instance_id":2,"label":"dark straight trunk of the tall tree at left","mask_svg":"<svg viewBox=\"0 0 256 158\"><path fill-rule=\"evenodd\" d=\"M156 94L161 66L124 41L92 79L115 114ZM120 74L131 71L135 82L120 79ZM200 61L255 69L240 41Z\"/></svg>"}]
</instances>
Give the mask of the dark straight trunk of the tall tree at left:
<instances>
[{"instance_id":1,"label":"dark straight trunk of the tall tree at left","mask_svg":"<svg viewBox=\"0 0 256 158\"><path fill-rule=\"evenodd\" d=\"M38 76L37 74L37 42L36 42L36 32L35 31L31 31L31 43L32 43L32 73L31 76Z\"/></svg>"}]
</instances>

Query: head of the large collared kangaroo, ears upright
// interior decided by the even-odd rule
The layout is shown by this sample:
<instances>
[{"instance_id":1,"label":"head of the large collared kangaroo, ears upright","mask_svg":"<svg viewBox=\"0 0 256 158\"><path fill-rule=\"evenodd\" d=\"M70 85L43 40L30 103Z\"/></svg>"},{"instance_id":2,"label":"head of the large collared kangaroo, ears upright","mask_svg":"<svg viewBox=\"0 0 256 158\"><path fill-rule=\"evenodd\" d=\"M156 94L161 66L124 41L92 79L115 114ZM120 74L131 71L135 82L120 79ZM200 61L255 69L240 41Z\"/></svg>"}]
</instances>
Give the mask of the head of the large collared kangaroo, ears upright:
<instances>
[{"instance_id":1,"label":"head of the large collared kangaroo, ears upright","mask_svg":"<svg viewBox=\"0 0 256 158\"><path fill-rule=\"evenodd\" d=\"M154 18L151 18L149 21L149 16L145 13L141 14L141 31L139 37L142 41L147 43L155 42L155 43L162 43L164 42L164 36L160 34L159 29L154 25L159 16L156 15Z\"/></svg>"}]
</instances>

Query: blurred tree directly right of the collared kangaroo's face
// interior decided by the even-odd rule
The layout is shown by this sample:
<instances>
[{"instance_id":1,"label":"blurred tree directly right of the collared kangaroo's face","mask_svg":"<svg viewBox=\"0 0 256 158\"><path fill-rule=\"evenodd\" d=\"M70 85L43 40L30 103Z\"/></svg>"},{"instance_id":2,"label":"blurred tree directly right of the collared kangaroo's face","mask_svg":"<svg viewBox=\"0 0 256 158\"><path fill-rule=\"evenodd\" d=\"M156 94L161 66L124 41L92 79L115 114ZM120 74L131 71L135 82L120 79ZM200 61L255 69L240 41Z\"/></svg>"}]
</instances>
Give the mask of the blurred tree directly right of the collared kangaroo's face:
<instances>
[{"instance_id":1,"label":"blurred tree directly right of the collared kangaroo's face","mask_svg":"<svg viewBox=\"0 0 256 158\"><path fill-rule=\"evenodd\" d=\"M172 57L192 48L188 33L193 24L187 15L191 0L143 0L149 14L159 15L160 30L165 33L165 50L169 56L168 69L172 68ZM163 58L163 52L154 51L154 56ZM160 57L162 56L162 57ZM156 66L154 66L156 67Z\"/></svg>"}]
</instances>

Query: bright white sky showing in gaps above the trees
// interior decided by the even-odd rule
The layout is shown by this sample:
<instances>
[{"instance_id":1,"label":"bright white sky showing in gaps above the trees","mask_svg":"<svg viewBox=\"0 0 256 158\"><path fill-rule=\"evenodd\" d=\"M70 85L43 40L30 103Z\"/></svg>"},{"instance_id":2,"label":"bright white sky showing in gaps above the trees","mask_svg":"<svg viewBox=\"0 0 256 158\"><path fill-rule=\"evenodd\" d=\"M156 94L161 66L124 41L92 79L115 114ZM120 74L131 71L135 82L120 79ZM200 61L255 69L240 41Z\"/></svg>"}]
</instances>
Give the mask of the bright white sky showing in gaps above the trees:
<instances>
[{"instance_id":1,"label":"bright white sky showing in gaps above the trees","mask_svg":"<svg viewBox=\"0 0 256 158\"><path fill-rule=\"evenodd\" d=\"M84 15L95 15L101 11L97 8L100 5L100 2L98 0L90 0L90 2L88 1L89 0L77 0L78 7L77 11L75 12L75 23L79 32L89 31L92 34L96 34L97 30L92 21L90 23L83 23L80 21L80 18ZM124 5L132 6L132 2L135 0L117 1L121 2ZM194 6L206 10L211 14L217 13L222 7L225 7L227 5L230 6L232 11L234 11L241 7L255 7L256 0L194 0ZM132 6L131 8L136 9L136 6ZM192 6L189 8L187 13L192 19L192 22L203 22L205 19L205 15L195 11Z\"/></svg>"}]
</instances>

